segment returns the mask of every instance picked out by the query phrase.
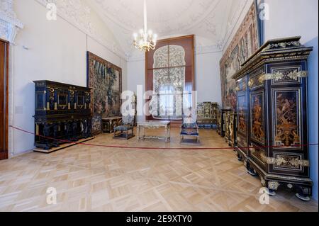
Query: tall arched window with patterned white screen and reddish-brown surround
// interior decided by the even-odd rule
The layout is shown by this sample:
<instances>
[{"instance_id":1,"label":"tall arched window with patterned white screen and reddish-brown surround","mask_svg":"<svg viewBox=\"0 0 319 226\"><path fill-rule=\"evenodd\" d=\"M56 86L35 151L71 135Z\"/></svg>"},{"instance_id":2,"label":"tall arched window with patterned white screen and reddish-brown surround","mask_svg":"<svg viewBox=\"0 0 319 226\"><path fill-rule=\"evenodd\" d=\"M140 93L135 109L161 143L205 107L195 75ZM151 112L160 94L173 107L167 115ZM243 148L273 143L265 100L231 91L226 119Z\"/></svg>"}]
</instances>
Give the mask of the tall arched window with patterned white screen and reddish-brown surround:
<instances>
[{"instance_id":1,"label":"tall arched window with patterned white screen and reddish-brown surround","mask_svg":"<svg viewBox=\"0 0 319 226\"><path fill-rule=\"evenodd\" d=\"M194 90L194 35L159 40L146 54L146 89L154 91L148 120L181 120ZM183 96L181 95L183 94Z\"/></svg>"}]
</instances>

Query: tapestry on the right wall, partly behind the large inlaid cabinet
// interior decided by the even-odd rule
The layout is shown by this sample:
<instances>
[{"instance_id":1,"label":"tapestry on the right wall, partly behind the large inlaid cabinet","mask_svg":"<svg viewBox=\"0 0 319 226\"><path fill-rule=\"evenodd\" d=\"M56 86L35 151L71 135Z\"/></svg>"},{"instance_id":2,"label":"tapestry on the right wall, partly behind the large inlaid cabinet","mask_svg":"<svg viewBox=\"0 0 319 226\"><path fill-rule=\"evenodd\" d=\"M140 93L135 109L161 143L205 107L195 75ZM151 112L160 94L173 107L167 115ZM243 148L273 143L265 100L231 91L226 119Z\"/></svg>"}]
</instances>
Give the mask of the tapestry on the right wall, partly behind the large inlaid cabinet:
<instances>
[{"instance_id":1,"label":"tapestry on the right wall, partly behind the large inlaid cabinet","mask_svg":"<svg viewBox=\"0 0 319 226\"><path fill-rule=\"evenodd\" d=\"M252 3L240 28L220 60L220 80L223 108L236 108L235 80L233 75L241 65L260 47L259 23L256 1Z\"/></svg>"}]
</instances>

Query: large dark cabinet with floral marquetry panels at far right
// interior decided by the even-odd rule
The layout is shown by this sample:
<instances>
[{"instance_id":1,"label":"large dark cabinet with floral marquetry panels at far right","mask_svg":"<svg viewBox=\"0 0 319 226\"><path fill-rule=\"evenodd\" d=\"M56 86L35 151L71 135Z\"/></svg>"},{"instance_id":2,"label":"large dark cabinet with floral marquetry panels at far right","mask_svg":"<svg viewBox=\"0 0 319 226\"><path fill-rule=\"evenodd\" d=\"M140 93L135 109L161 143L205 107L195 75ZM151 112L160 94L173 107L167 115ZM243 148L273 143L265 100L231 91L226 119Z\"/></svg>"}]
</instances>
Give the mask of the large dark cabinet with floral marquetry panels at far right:
<instances>
[{"instance_id":1,"label":"large dark cabinet with floral marquetry panels at far right","mask_svg":"<svg viewBox=\"0 0 319 226\"><path fill-rule=\"evenodd\" d=\"M296 191L308 200L307 59L301 37L269 40L233 79L237 82L237 144L250 174L274 194ZM250 148L247 148L250 147Z\"/></svg>"}]
</instances>

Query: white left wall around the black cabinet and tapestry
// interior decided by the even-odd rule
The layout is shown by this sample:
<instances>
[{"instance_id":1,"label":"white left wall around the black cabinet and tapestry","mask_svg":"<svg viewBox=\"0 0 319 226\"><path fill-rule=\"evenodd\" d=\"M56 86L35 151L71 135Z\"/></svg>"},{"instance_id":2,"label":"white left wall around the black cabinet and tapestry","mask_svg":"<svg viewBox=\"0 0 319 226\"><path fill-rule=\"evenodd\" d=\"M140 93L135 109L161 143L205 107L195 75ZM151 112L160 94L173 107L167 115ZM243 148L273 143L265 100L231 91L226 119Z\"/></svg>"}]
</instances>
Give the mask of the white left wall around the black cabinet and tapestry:
<instances>
[{"instance_id":1,"label":"white left wall around the black cabinet and tapestry","mask_svg":"<svg viewBox=\"0 0 319 226\"><path fill-rule=\"evenodd\" d=\"M15 11L25 28L18 33L16 46L11 46L9 53L12 65L9 76L13 89L10 101L13 108L9 113L13 114L11 125L34 131L34 80L86 86L86 50L121 67L125 89L127 62L121 57L61 17L57 21L47 21L47 9L35 0L16 0ZM104 36L110 38L111 35ZM33 135L10 130L10 157L33 149Z\"/></svg>"}]
</instances>

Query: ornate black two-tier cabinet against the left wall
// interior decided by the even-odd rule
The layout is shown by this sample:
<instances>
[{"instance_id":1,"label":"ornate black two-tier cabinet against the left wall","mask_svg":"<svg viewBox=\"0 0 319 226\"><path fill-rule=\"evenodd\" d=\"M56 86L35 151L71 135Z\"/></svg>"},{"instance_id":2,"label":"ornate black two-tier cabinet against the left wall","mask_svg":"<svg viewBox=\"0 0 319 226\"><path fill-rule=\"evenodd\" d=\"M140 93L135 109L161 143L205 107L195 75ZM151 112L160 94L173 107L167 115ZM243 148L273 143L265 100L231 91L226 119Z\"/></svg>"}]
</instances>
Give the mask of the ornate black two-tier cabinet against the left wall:
<instances>
[{"instance_id":1,"label":"ornate black two-tier cabinet against the left wall","mask_svg":"<svg viewBox=\"0 0 319 226\"><path fill-rule=\"evenodd\" d=\"M91 137L89 88L46 80L33 82L35 147L50 149Z\"/></svg>"}]
</instances>

